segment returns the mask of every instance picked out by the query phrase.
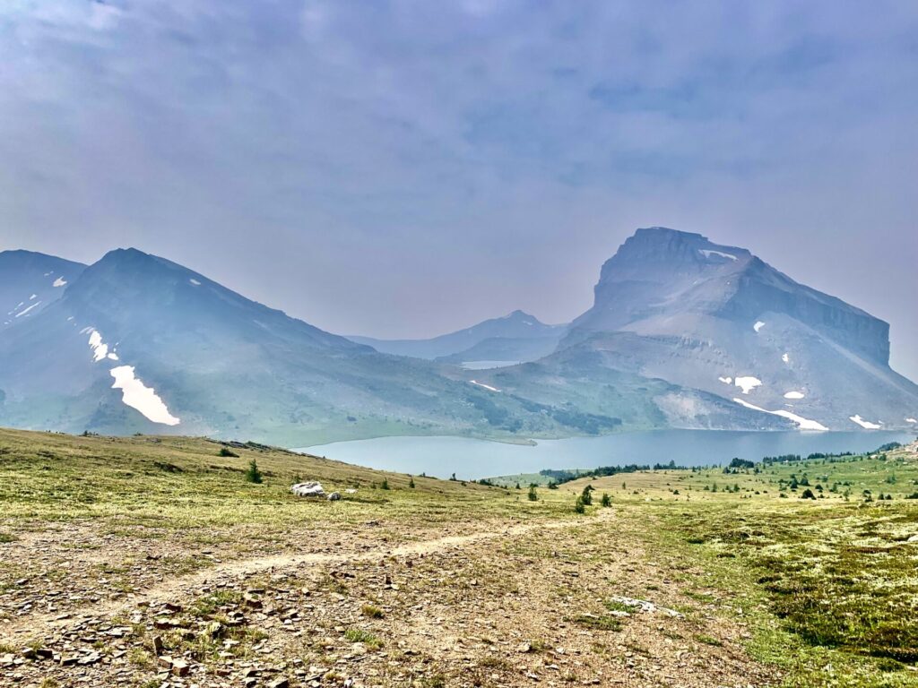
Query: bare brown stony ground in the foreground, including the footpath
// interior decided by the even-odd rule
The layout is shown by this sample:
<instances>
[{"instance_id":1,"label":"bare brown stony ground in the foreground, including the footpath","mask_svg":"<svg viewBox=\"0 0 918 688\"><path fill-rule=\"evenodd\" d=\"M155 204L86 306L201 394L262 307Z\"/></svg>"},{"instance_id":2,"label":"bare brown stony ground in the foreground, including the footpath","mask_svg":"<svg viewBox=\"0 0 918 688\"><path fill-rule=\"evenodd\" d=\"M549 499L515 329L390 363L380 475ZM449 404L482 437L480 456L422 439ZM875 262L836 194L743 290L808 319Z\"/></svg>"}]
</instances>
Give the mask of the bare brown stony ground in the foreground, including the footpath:
<instances>
[{"instance_id":1,"label":"bare brown stony ground in the foreground, including the footpath","mask_svg":"<svg viewBox=\"0 0 918 688\"><path fill-rule=\"evenodd\" d=\"M62 579L42 597L68 611L0 626L0 667L11 684L45 688L768 684L744 629L677 592L673 576L702 571L648 560L624 525L610 509L395 547L366 538L213 558L129 594L99 577L79 600ZM5 598L29 599L30 582L17 583Z\"/></svg>"}]
</instances>

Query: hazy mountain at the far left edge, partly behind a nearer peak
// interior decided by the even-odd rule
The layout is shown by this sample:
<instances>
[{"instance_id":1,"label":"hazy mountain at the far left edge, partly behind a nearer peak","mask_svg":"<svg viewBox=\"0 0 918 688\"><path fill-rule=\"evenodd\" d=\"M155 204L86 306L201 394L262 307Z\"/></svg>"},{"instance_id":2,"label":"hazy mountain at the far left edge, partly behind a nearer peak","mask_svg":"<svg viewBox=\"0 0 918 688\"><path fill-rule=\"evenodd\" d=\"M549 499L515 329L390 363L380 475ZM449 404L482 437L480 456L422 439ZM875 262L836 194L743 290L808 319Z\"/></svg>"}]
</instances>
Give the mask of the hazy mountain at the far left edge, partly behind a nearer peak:
<instances>
[{"instance_id":1,"label":"hazy mountain at the far left edge, partly behind a nearer peak","mask_svg":"<svg viewBox=\"0 0 918 688\"><path fill-rule=\"evenodd\" d=\"M85 265L29 250L0 252L0 330L34 317L63 294Z\"/></svg>"}]
</instances>

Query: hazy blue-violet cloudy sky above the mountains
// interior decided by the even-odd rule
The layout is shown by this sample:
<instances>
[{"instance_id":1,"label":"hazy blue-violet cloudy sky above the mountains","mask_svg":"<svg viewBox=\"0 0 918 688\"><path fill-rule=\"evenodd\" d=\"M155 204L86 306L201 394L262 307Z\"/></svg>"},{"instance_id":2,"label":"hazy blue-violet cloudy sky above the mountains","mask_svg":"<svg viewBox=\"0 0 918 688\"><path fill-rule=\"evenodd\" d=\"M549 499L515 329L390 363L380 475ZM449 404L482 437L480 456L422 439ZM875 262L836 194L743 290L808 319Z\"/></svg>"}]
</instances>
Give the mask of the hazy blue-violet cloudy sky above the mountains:
<instances>
[{"instance_id":1,"label":"hazy blue-violet cloudy sky above the mountains","mask_svg":"<svg viewBox=\"0 0 918 688\"><path fill-rule=\"evenodd\" d=\"M134 246L341 334L565 322L635 227L890 322L918 4L4 0L0 250Z\"/></svg>"}]
</instances>

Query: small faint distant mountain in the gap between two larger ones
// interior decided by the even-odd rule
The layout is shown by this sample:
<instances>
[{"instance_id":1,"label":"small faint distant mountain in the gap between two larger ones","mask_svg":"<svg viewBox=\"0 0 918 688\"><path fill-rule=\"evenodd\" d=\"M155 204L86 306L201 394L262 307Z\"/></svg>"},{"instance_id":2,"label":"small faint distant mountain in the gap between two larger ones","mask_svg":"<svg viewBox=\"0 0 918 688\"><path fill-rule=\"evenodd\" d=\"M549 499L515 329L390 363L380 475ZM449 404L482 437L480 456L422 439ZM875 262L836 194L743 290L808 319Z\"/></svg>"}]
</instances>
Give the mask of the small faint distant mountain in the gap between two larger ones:
<instances>
[{"instance_id":1,"label":"small faint distant mountain in the gap between two larger ones","mask_svg":"<svg viewBox=\"0 0 918 688\"><path fill-rule=\"evenodd\" d=\"M431 339L351 339L383 353L417 359L455 363L518 362L548 355L565 331L565 325L545 325L535 316L516 310L508 316L495 317Z\"/></svg>"}]
</instances>

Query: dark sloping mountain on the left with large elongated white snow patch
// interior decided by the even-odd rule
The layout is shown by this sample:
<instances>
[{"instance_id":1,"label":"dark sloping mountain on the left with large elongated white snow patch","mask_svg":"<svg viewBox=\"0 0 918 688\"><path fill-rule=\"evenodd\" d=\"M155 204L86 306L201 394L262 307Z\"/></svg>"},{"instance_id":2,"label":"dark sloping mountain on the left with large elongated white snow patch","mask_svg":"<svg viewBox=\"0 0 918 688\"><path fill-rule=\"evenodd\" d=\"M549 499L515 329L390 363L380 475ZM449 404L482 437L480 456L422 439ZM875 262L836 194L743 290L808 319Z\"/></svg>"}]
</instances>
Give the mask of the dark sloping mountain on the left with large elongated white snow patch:
<instances>
[{"instance_id":1,"label":"dark sloping mountain on the left with large elongated white snow patch","mask_svg":"<svg viewBox=\"0 0 918 688\"><path fill-rule=\"evenodd\" d=\"M564 435L583 422L492 398L436 363L378 353L139 250L107 253L27 322L0 330L0 360L0 425L13 427L302 446Z\"/></svg>"}]
</instances>

